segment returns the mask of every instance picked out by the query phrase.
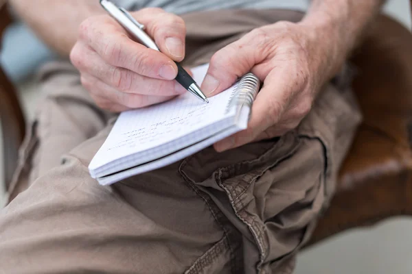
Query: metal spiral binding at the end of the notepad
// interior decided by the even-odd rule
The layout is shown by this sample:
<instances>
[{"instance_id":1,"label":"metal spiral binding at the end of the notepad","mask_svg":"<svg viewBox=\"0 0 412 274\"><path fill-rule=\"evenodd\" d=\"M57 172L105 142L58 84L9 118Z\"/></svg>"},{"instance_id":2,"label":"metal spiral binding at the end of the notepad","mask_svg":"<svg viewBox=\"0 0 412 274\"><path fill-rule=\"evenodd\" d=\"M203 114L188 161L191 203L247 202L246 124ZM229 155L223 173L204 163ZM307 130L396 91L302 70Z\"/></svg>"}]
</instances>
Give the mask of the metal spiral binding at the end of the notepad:
<instances>
[{"instance_id":1,"label":"metal spiral binding at the end of the notepad","mask_svg":"<svg viewBox=\"0 0 412 274\"><path fill-rule=\"evenodd\" d=\"M244 75L236 87L234 88L229 103L227 104L226 111L229 112L233 108L240 111L244 105L251 108L253 101L255 101L256 95L258 95L260 88L260 80L253 73L247 73Z\"/></svg>"}]
</instances>

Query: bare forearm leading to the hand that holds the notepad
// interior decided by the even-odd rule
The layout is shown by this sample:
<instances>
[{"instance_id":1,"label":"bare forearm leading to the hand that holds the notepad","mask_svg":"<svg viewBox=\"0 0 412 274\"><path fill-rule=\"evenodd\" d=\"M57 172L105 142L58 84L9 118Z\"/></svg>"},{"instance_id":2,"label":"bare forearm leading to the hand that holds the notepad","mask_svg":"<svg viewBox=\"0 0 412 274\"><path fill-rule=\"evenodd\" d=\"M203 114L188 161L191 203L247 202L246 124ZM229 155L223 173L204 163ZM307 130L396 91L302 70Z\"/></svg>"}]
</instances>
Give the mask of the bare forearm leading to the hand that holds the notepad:
<instances>
[{"instance_id":1,"label":"bare forearm leading to the hand that holds the notepad","mask_svg":"<svg viewBox=\"0 0 412 274\"><path fill-rule=\"evenodd\" d=\"M314 29L328 66L328 77L341 69L343 62L367 31L385 0L312 0L301 24ZM320 45L322 44L322 45Z\"/></svg>"}]
</instances>

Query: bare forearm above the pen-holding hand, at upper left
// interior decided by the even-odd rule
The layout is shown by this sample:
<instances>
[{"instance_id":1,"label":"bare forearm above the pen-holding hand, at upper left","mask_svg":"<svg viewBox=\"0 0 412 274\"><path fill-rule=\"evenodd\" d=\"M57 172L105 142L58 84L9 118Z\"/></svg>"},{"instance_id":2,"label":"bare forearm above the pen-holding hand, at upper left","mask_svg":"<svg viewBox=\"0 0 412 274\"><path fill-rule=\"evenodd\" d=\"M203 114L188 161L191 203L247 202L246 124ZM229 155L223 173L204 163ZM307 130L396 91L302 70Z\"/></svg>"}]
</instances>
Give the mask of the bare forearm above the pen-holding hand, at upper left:
<instances>
[{"instance_id":1,"label":"bare forearm above the pen-holding hand, at upper left","mask_svg":"<svg viewBox=\"0 0 412 274\"><path fill-rule=\"evenodd\" d=\"M102 13L97 0L10 0L10 3L39 38L65 57L76 42L80 23Z\"/></svg>"}]
</instances>

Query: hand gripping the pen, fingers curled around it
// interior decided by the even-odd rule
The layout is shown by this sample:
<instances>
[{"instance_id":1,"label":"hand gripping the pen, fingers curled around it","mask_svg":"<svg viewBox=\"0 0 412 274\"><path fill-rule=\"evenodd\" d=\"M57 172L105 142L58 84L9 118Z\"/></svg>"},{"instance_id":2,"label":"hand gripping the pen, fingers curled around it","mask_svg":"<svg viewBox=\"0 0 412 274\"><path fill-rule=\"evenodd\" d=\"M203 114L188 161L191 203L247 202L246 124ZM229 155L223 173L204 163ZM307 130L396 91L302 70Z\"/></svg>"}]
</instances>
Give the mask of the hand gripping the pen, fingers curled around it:
<instances>
[{"instance_id":1,"label":"hand gripping the pen, fingers curled around it","mask_svg":"<svg viewBox=\"0 0 412 274\"><path fill-rule=\"evenodd\" d=\"M167 101L186 92L174 81L174 61L185 54L185 23L158 8L132 15L146 26L161 50L148 49L128 36L111 16L93 16L80 25L70 59L82 85L100 108L121 112Z\"/></svg>"}]
</instances>

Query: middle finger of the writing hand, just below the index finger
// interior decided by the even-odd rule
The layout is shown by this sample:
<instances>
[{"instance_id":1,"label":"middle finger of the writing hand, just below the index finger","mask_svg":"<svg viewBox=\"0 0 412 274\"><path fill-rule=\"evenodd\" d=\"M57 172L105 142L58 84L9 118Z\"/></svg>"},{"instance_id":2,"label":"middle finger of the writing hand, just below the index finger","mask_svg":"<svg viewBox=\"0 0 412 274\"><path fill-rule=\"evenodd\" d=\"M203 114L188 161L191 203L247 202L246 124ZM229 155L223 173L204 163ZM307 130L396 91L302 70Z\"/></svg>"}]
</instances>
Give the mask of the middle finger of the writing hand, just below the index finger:
<instances>
[{"instance_id":1,"label":"middle finger of the writing hand, just below the index finger","mask_svg":"<svg viewBox=\"0 0 412 274\"><path fill-rule=\"evenodd\" d=\"M98 53L81 44L77 44L72 52L71 62L82 73L93 75L116 90L155 96L181 95L187 91L174 80L150 78L112 66L104 62Z\"/></svg>"}]
</instances>

